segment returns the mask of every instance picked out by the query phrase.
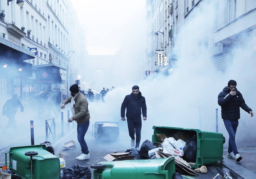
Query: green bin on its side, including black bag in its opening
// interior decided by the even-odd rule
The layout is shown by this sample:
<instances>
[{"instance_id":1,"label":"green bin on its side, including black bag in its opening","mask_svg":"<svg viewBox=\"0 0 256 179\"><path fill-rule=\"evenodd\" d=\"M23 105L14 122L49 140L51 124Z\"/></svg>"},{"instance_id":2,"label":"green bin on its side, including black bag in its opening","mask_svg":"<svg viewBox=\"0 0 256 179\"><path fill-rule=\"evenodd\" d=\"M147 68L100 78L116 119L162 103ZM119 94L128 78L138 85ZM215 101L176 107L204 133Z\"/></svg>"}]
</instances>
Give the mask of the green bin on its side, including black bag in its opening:
<instances>
[{"instance_id":1,"label":"green bin on its side, including black bag in its opening","mask_svg":"<svg viewBox=\"0 0 256 179\"><path fill-rule=\"evenodd\" d=\"M152 142L162 142L165 137L173 137L176 140L181 139L185 141L186 145L183 148L184 156L182 156L182 158L189 162L192 168L222 162L223 143L225 143L225 138L222 133L165 126L153 126L153 129L154 134L152 135ZM191 158L193 161L188 161L185 158L186 148L188 148L189 154L194 155L187 158ZM195 151L191 149L195 149Z\"/></svg>"}]
</instances>

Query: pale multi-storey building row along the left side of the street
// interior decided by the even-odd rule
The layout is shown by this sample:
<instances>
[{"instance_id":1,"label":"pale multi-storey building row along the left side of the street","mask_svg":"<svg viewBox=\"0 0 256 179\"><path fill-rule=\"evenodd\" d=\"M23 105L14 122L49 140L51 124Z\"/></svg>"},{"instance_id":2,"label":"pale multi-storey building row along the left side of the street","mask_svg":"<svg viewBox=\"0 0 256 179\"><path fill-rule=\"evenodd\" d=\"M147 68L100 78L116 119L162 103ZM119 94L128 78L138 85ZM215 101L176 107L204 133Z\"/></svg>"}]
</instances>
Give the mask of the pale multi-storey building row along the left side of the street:
<instances>
[{"instance_id":1,"label":"pale multi-storey building row along the left side of the street","mask_svg":"<svg viewBox=\"0 0 256 179\"><path fill-rule=\"evenodd\" d=\"M35 88L37 92L60 89L63 96L68 96L70 83L78 79L79 71L74 73L74 69L86 58L85 34L72 1L24 0L24 5L18 6L16 1L0 0L0 11L1 42L10 44L9 54L17 51L13 47L20 50L20 55L13 58L1 55L0 62L7 59L10 63L32 64L26 76L1 76L5 86L1 94L17 93L29 99L29 92ZM26 59L21 58L24 55Z\"/></svg>"}]
</instances>

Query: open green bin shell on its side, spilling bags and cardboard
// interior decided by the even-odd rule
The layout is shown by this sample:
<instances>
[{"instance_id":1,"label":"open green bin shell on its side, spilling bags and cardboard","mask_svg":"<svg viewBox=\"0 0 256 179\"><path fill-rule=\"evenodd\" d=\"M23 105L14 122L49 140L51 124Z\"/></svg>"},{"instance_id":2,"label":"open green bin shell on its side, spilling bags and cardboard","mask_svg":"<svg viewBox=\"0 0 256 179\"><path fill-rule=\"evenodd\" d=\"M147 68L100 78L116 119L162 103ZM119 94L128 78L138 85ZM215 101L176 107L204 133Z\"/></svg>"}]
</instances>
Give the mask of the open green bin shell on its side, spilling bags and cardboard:
<instances>
[{"instance_id":1,"label":"open green bin shell on its side, spilling bags and cardboard","mask_svg":"<svg viewBox=\"0 0 256 179\"><path fill-rule=\"evenodd\" d=\"M152 142L161 142L156 134L164 134L166 137L173 137L177 140L178 136L197 138L197 156L192 168L198 168L201 165L214 164L222 162L224 137L222 133L205 132L200 129L178 128L153 126L154 134ZM185 141L185 140L183 140ZM185 141L186 142L186 141Z\"/></svg>"}]
</instances>

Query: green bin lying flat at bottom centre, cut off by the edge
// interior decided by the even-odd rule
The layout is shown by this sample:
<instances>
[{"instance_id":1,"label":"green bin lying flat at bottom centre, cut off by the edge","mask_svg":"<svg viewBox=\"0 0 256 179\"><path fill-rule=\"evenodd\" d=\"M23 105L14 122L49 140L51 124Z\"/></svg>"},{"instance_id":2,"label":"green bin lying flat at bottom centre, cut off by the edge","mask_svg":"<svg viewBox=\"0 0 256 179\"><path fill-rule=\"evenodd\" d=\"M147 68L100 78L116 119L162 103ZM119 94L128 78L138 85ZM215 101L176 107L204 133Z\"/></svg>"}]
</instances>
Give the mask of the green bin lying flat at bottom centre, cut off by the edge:
<instances>
[{"instance_id":1,"label":"green bin lying flat at bottom centre, cut off by the edge","mask_svg":"<svg viewBox=\"0 0 256 179\"><path fill-rule=\"evenodd\" d=\"M94 179L169 179L175 173L174 157L148 160L103 161L91 165Z\"/></svg>"}]
</instances>

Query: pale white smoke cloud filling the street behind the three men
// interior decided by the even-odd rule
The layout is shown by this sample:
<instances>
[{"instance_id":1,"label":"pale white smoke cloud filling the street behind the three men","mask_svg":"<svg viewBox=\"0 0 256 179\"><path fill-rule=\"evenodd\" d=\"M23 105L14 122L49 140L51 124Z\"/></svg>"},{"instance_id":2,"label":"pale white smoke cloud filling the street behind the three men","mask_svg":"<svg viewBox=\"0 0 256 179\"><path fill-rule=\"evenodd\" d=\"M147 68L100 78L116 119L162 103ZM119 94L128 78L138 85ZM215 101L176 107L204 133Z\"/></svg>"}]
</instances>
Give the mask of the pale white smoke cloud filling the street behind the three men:
<instances>
[{"instance_id":1,"label":"pale white smoke cloud filling the street behind the three men","mask_svg":"<svg viewBox=\"0 0 256 179\"><path fill-rule=\"evenodd\" d=\"M133 1L134 2L134 1ZM125 95L132 92L132 86L138 85L142 95L146 98L147 104L147 121L143 121L142 139L152 139L152 126L171 126L182 128L201 129L202 131L215 132L215 116L216 108L218 108L218 124L219 132L223 133L228 144L228 133L221 119L221 108L217 104L217 96L222 89L227 86L229 80L233 79L237 82L237 89L242 93L247 105L252 109L256 109L255 99L255 50L253 50L251 43L247 39L252 39L252 36L243 36L241 43L237 43L232 51L232 59L224 73L217 72L210 57L210 45L205 42L209 40L209 33L214 31L214 21L216 10L214 9L216 1L200 2L200 7L193 10L186 20L184 27L177 34L175 39L176 49L178 54L178 61L176 68L168 77L160 76L155 78L153 76L147 79L142 79L145 76L145 67L143 66L145 53L145 6L140 6L136 14L142 14L141 18L130 19L131 26L127 27L123 32L123 43L121 44L118 55L120 59L117 64L112 66L115 74L111 79L106 81L109 86L104 86L105 89L112 87L112 84L117 84L114 90L107 93L105 102L89 103L89 111L91 114L91 124L87 135L90 135L91 125L97 121L119 121L121 135L128 136L127 121L121 121L120 108ZM207 11L206 11L207 9ZM108 13L108 12L104 12ZM127 12L128 14L130 12ZM107 26L107 24L105 25ZM106 28L106 27L104 27ZM112 29L114 30L114 29ZM122 28L117 30L123 30ZM89 30L87 31L89 32ZM89 37L90 34L87 33ZM106 36L101 36L105 38ZM125 38L123 38L125 37ZM206 40L207 39L207 40ZM110 40L108 40L110 41ZM118 43L118 45L120 45ZM92 47L93 48L93 47ZM117 50L117 49L116 49ZM154 80L156 79L156 80ZM0 105L11 98L11 96L1 95L2 100ZM17 139L25 139L30 136L29 121L35 119L36 127L40 132L44 132L44 119L39 119L33 109L28 109L28 104L24 105L24 113L17 112L16 122L20 128L20 135L18 136L14 131L8 133L10 137L5 138L1 142L1 147L9 144L9 138L15 141ZM28 107L28 108L26 108ZM70 109L68 106L66 112ZM250 114L240 109L241 118L239 119L239 126L237 129L237 146L254 145L250 139L254 137L255 117L251 118ZM19 117L18 117L19 116ZM51 116L55 116L51 113ZM7 118L1 118L1 131L7 124ZM56 116L56 125L60 126L60 115ZM60 128L60 127L58 127ZM59 129L58 129L59 130ZM40 136L40 132L35 133L35 139ZM2 133L3 135L3 133ZM246 139L246 140L245 140ZM43 143L41 138L35 143ZM245 141L244 141L245 140ZM27 142L28 141L28 142ZM6 143L5 143L6 142ZM26 143L29 143L26 140ZM124 141L123 141L124 142ZM127 142L129 147L129 141Z\"/></svg>"}]
</instances>

